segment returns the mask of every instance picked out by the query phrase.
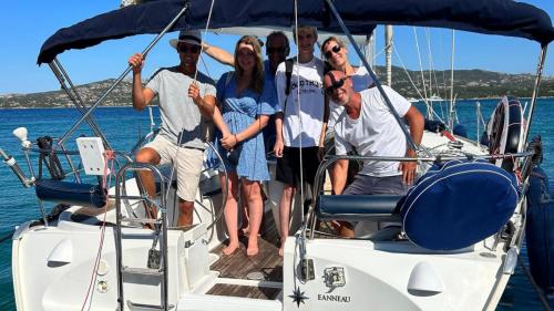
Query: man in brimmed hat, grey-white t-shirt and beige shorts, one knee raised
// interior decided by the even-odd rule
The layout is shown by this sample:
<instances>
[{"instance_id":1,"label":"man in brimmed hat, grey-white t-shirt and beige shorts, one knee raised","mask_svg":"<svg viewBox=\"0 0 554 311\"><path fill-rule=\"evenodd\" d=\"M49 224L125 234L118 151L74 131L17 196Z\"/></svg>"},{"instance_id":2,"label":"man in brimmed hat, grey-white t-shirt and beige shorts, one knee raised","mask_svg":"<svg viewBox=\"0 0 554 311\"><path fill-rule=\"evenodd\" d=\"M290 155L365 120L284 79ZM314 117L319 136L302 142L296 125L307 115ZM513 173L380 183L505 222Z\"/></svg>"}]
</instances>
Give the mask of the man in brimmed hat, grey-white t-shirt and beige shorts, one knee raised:
<instances>
[{"instance_id":1,"label":"man in brimmed hat, grey-white t-shirt and beige shorts, one knee raised","mask_svg":"<svg viewBox=\"0 0 554 311\"><path fill-rule=\"evenodd\" d=\"M176 49L179 64L158 70L146 86L142 84L144 56L136 53L129 59L133 69L133 107L142 111L155 96L160 99L162 124L153 142L141 148L136 162L176 166L179 216L177 226L193 224L193 209L204 160L202 117L212 117L215 106L214 81L198 72L201 54L199 31L182 31L170 44ZM150 197L155 195L154 177L141 172L142 184ZM146 214L156 218L156 208Z\"/></svg>"}]
</instances>

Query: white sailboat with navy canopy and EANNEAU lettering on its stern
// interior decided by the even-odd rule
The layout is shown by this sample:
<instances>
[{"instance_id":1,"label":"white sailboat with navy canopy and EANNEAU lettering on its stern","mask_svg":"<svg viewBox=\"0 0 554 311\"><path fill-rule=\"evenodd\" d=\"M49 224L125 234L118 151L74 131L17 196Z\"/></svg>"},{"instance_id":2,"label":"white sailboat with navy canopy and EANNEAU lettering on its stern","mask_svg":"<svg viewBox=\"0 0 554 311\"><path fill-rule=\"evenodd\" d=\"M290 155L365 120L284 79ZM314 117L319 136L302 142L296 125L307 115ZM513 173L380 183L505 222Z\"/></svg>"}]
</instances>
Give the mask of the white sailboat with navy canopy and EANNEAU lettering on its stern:
<instances>
[{"instance_id":1,"label":"white sailboat with navy canopy and EANNEAU lettering on its stern","mask_svg":"<svg viewBox=\"0 0 554 311\"><path fill-rule=\"evenodd\" d=\"M299 227L287 238L283 259L271 242L260 246L269 250L261 249L258 260L222 257L218 250L226 236L219 221L220 185L213 169L203 174L194 226L173 228L171 180L155 167L135 164L126 152L113 151L92 117L130 69L86 105L59 56L106 40L157 33L144 50L147 54L168 31L289 28L295 17L298 24L349 38L369 34L377 24L410 24L536 41L542 50L526 123L517 100L504 97L491 125L489 148L449 133L425 132L421 146L414 146L418 158L400 158L421 163L422 177L407 197L331 196L324 190L322 177L339 157L328 158L320 165L306 217L304 198L295 203ZM119 166L113 172L115 186L106 196L95 185L37 180L2 153L23 185L37 188L39 198L64 205L54 215L43 212L43 219L21 224L13 235L18 310L494 310L522 245L533 155L526 142L546 48L553 39L544 11L509 0L147 1L60 29L42 45L38 63L53 70L81 117L50 147L30 143L23 128L16 134L23 151L39 152L54 166L53 173L57 156L75 156L93 174L106 163L105 151L112 151ZM356 49L353 39L351 43ZM359 49L357 53L382 90ZM78 145L90 148L68 151L64 144L83 123L93 136L78 138ZM74 168L70 172L78 176L80 169ZM146 198L133 178L138 169L158 176L160 219L146 220L142 208ZM450 177L453 184L441 189L439 197L427 191ZM266 186L269 200L275 200L279 186ZM321 222L334 219L394 220L402 226L341 239L319 230ZM156 222L156 230L145 228L147 221ZM267 230L271 231L269 225Z\"/></svg>"}]
</instances>

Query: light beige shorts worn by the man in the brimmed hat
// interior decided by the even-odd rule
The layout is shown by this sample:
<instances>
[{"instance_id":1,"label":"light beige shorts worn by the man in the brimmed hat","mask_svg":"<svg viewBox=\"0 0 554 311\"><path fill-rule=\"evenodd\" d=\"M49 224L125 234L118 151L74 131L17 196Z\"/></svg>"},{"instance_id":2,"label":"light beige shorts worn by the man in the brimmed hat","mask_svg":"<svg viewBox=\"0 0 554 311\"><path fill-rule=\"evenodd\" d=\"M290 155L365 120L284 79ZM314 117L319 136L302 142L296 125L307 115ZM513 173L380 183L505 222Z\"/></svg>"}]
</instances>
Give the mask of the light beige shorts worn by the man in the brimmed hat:
<instances>
[{"instance_id":1,"label":"light beige shorts worn by the man in the brimmed hat","mask_svg":"<svg viewBox=\"0 0 554 311\"><path fill-rule=\"evenodd\" d=\"M204 162L204 151L177 147L167 138L156 136L144 148L152 148L160 155L160 165L172 164L177 170L177 196L194 201Z\"/></svg>"}]
</instances>

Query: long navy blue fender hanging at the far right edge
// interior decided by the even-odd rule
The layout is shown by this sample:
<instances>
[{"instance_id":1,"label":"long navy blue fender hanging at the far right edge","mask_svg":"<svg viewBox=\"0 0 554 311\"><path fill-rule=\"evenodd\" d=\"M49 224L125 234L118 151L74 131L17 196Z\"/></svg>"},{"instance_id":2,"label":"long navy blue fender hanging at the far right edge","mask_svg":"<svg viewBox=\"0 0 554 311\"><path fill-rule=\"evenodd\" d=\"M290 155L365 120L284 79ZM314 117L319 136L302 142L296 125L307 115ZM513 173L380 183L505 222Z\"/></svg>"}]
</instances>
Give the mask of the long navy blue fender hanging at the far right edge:
<instances>
[{"instance_id":1,"label":"long navy blue fender hanging at the far right edge","mask_svg":"<svg viewBox=\"0 0 554 311\"><path fill-rule=\"evenodd\" d=\"M547 291L554 290L554 191L548 177L535 165L527 190L525 239L531 274Z\"/></svg>"}]
</instances>

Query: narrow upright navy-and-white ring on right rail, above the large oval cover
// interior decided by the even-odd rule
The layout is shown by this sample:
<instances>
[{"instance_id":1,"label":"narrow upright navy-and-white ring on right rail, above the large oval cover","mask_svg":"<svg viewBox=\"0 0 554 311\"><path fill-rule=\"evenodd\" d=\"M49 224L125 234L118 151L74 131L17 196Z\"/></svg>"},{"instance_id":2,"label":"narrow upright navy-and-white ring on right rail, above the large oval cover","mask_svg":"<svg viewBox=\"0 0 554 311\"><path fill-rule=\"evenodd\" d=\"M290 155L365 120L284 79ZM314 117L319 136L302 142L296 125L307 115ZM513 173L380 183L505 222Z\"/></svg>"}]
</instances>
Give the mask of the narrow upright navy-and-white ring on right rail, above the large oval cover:
<instances>
[{"instance_id":1,"label":"narrow upright navy-and-white ring on right rail, above the large oval cover","mask_svg":"<svg viewBox=\"0 0 554 311\"><path fill-rule=\"evenodd\" d=\"M520 101L513 96L504 96L496 105L486 126L489 152L495 154L517 153L523 143L523 111ZM514 170L514 159L499 158L491 163L507 172Z\"/></svg>"}]
</instances>

